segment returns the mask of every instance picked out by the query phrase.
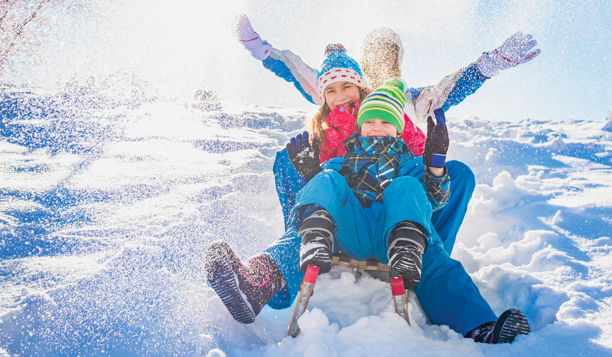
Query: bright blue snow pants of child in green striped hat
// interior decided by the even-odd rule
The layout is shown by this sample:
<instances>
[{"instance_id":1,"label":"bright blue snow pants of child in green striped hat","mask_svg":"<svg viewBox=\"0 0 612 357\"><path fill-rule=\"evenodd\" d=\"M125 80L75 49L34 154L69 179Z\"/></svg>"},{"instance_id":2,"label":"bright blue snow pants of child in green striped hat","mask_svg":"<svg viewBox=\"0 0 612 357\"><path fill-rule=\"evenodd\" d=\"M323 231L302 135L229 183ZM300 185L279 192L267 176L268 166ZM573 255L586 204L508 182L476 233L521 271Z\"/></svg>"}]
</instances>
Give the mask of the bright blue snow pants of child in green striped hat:
<instances>
[{"instance_id":1,"label":"bright blue snow pants of child in green striped hat","mask_svg":"<svg viewBox=\"0 0 612 357\"><path fill-rule=\"evenodd\" d=\"M394 179L384 189L382 203L373 202L364 208L344 176L326 170L313 177L297 194L296 206L291 211L293 228L299 229L304 219L321 208L334 219L334 251L356 260L389 263L389 235L398 223L406 220L422 225L425 236L431 236L431 204L423 185L414 177Z\"/></svg>"}]
</instances>

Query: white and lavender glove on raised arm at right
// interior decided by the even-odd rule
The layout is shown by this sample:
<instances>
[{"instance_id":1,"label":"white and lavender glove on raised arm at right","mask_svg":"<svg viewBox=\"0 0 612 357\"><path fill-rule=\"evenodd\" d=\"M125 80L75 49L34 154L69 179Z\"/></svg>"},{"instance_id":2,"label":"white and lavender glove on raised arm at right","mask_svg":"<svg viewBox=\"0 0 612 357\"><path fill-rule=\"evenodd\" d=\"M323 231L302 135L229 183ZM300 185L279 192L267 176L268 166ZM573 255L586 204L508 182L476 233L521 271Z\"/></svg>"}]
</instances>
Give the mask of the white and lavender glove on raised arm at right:
<instances>
[{"instance_id":1,"label":"white and lavender glove on raised arm at right","mask_svg":"<svg viewBox=\"0 0 612 357\"><path fill-rule=\"evenodd\" d=\"M530 34L523 35L523 32L518 31L508 37L498 48L483 53L476 61L476 66L483 75L493 77L500 70L534 59L540 54L539 48L531 50L535 45L537 45L537 40L532 39Z\"/></svg>"}]
</instances>

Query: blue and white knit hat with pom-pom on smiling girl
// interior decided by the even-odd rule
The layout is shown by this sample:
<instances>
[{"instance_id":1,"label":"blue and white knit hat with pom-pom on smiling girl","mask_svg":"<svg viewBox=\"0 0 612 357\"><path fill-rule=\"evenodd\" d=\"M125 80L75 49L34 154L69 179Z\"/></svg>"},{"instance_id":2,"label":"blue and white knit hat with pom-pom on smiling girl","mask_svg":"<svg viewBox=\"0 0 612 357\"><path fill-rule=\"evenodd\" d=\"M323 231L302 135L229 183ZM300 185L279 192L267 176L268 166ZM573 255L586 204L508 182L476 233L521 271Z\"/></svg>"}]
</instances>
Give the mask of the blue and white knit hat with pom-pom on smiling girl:
<instances>
[{"instance_id":1,"label":"blue and white knit hat with pom-pom on smiling girl","mask_svg":"<svg viewBox=\"0 0 612 357\"><path fill-rule=\"evenodd\" d=\"M362 88L368 86L357 61L346 55L343 45L331 43L325 48L325 59L317 76L319 96L323 98L325 88L336 82L351 82Z\"/></svg>"}]
</instances>

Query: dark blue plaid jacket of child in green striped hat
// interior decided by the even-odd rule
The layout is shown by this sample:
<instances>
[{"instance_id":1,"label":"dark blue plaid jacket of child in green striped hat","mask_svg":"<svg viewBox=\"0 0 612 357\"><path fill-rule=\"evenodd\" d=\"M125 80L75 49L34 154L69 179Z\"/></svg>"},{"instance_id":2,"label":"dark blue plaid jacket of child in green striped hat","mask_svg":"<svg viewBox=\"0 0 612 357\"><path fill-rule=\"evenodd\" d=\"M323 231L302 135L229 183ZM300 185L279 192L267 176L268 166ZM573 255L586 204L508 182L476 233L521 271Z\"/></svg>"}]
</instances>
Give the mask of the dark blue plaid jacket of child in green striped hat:
<instances>
[{"instance_id":1,"label":"dark blue plaid jacket of child in green striped hat","mask_svg":"<svg viewBox=\"0 0 612 357\"><path fill-rule=\"evenodd\" d=\"M341 173L359 203L371 206L373 201L383 201L383 190L399 176L400 167L414 159L406 143L400 138L361 137L351 135L345 141L345 165ZM412 176L412 175L411 175ZM450 176L436 177L425 170L420 178L433 211L444 207L450 197Z\"/></svg>"}]
</instances>

